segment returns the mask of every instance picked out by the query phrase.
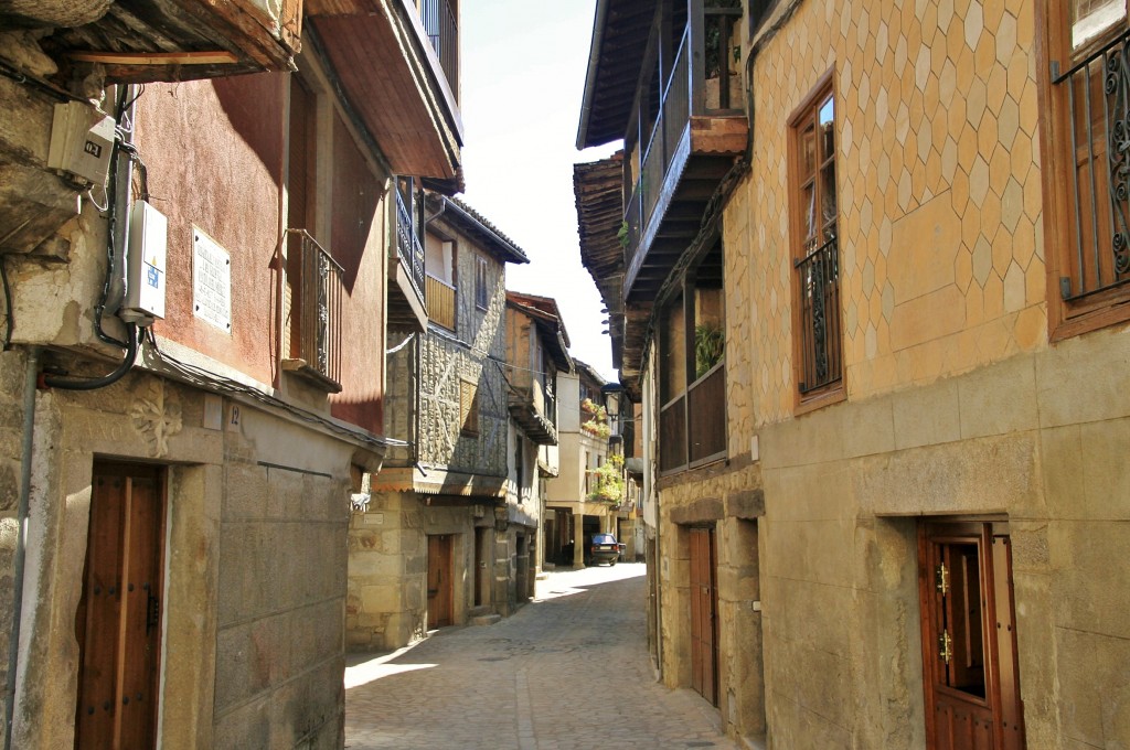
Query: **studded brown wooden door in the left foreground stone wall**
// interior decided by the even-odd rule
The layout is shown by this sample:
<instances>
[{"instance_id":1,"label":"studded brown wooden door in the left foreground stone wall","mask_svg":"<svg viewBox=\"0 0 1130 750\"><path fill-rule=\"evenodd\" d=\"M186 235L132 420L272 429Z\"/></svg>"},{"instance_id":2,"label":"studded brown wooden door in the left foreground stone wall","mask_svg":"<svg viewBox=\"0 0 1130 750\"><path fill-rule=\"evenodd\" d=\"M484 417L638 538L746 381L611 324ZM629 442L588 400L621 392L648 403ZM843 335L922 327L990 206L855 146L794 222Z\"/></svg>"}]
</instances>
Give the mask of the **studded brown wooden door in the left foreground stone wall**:
<instances>
[{"instance_id":1,"label":"studded brown wooden door in the left foreground stone wall","mask_svg":"<svg viewBox=\"0 0 1130 750\"><path fill-rule=\"evenodd\" d=\"M75 747L156 747L164 578L164 474L96 463L82 598L75 620Z\"/></svg>"}]
</instances>

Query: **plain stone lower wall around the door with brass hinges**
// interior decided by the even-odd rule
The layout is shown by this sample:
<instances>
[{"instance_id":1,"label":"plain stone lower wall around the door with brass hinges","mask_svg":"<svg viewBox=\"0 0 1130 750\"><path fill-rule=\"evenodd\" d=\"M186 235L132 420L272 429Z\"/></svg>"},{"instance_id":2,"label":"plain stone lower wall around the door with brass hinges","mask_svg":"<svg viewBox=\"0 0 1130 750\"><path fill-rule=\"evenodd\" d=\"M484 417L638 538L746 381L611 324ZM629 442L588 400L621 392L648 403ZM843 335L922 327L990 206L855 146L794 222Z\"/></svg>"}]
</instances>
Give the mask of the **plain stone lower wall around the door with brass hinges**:
<instances>
[{"instance_id":1,"label":"plain stone lower wall around the door with brass hinges","mask_svg":"<svg viewBox=\"0 0 1130 750\"><path fill-rule=\"evenodd\" d=\"M763 430L766 686L777 741L921 736L912 518L1002 512L1028 747L1128 738L1118 718L1127 686L1109 669L1125 663L1130 631L1114 564L1130 543L1130 471L1111 453L1130 434L1130 399L1118 385L1128 352L1125 331L1102 331ZM855 705L867 710L844 708Z\"/></svg>"}]
</instances>

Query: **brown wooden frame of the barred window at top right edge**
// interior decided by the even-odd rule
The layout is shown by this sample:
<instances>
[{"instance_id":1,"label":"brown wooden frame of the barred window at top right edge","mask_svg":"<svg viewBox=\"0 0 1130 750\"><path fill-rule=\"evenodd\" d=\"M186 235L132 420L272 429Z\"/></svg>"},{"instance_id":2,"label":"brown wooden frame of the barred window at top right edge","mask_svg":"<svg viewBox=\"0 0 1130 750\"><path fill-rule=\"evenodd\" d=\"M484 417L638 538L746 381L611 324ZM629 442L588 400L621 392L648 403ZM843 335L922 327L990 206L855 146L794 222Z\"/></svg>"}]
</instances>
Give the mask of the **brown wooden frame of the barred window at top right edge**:
<instances>
[{"instance_id":1,"label":"brown wooden frame of the barred window at top right edge","mask_svg":"<svg viewBox=\"0 0 1130 750\"><path fill-rule=\"evenodd\" d=\"M1048 272L1048 337L1060 341L1089 331L1130 321L1130 281L1075 300L1063 299L1061 279L1071 273L1069 254L1076 251L1076 220L1072 208L1075 154L1067 84L1055 84L1053 68L1068 71L1085 55L1101 49L1127 30L1127 23L1106 29L1088 41L1078 51L1071 46L1070 0L1036 3L1036 32L1043 41L1038 45L1045 58L1036 64L1040 103L1040 147L1043 155L1041 180L1043 186L1044 258ZM1105 162L1105 159L1103 159Z\"/></svg>"}]
</instances>

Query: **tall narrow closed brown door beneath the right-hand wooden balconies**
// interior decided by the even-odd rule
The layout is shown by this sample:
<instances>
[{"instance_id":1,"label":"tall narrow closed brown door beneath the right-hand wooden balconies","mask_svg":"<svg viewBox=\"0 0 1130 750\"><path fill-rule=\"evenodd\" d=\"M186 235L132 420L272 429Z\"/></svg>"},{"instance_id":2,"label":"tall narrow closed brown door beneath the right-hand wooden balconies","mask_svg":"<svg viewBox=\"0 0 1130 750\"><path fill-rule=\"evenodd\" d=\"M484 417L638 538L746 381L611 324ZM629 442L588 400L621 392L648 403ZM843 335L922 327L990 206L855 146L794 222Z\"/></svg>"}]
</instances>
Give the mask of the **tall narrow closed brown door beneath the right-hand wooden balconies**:
<instances>
[{"instance_id":1,"label":"tall narrow closed brown door beneath the right-hand wooden balconies","mask_svg":"<svg viewBox=\"0 0 1130 750\"><path fill-rule=\"evenodd\" d=\"M690 529L690 687L718 705L714 530Z\"/></svg>"}]
</instances>

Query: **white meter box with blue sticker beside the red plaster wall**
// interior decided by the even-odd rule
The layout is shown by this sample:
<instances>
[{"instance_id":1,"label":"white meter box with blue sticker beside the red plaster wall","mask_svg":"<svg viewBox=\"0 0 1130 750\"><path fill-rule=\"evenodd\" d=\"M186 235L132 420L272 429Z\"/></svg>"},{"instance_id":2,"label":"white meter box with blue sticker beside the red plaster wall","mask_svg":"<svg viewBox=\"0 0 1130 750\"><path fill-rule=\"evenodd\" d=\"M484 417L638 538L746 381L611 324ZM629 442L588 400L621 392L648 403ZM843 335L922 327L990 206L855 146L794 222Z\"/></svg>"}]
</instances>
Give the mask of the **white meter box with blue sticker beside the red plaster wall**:
<instances>
[{"instance_id":1,"label":"white meter box with blue sticker beside the red plaster wall","mask_svg":"<svg viewBox=\"0 0 1130 750\"><path fill-rule=\"evenodd\" d=\"M133 203L125 243L125 302L119 316L147 325L165 317L168 219L145 201Z\"/></svg>"}]
</instances>

